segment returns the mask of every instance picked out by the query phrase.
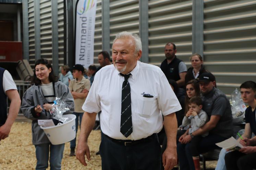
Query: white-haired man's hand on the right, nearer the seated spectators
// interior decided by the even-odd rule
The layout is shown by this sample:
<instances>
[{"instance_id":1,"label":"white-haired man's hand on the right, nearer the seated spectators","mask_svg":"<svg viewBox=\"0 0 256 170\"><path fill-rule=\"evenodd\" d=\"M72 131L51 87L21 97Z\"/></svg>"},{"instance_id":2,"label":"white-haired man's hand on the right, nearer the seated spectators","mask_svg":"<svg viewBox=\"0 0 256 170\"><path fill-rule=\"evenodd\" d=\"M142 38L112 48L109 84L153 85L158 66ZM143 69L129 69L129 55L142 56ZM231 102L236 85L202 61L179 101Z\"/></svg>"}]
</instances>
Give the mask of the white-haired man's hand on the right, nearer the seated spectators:
<instances>
[{"instance_id":1,"label":"white-haired man's hand on the right, nearer the seated spectators","mask_svg":"<svg viewBox=\"0 0 256 170\"><path fill-rule=\"evenodd\" d=\"M164 170L171 170L177 164L176 148L166 148L162 155L162 162Z\"/></svg>"}]
</instances>

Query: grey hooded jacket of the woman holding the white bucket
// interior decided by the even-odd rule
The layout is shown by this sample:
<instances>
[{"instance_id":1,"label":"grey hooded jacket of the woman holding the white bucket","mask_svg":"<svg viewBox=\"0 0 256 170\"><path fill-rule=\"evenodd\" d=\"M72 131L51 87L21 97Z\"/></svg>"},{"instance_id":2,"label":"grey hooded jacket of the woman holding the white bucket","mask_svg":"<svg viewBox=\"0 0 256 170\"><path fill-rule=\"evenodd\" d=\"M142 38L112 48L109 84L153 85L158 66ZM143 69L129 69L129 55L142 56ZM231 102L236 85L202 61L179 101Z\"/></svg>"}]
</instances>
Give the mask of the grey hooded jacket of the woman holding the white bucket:
<instances>
[{"instance_id":1,"label":"grey hooded jacket of the woman holding the white bucket","mask_svg":"<svg viewBox=\"0 0 256 170\"><path fill-rule=\"evenodd\" d=\"M64 101L68 107L69 111L65 112L65 114L73 113L74 111L74 98L70 93L68 86L61 82L54 83L55 94L56 97L62 97L62 101ZM42 89L40 85L32 85L29 87L22 98L21 110L24 116L28 119L32 120L32 143L33 145L50 143L49 139L45 135L44 130L40 128L37 123L38 119L49 119L51 117L50 112L46 110L42 110L39 117L35 118L32 116L31 109L34 108L37 104L41 105L43 108L44 103L48 103L42 94Z\"/></svg>"}]
</instances>

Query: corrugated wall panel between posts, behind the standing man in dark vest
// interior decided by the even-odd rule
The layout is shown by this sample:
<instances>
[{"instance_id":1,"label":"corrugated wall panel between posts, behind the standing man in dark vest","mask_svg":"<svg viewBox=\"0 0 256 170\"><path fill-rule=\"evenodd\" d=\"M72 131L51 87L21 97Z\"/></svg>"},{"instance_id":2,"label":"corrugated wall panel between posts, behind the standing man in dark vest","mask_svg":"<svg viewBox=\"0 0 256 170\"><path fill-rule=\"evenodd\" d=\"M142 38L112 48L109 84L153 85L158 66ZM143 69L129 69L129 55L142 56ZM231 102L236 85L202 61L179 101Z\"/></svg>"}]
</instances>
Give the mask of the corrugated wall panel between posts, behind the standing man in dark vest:
<instances>
[{"instance_id":1,"label":"corrugated wall panel between posts, behind the standing man in dark vest","mask_svg":"<svg viewBox=\"0 0 256 170\"><path fill-rule=\"evenodd\" d=\"M149 0L149 63L160 66L164 46L176 45L177 57L188 61L192 53L192 0Z\"/></svg>"}]
</instances>

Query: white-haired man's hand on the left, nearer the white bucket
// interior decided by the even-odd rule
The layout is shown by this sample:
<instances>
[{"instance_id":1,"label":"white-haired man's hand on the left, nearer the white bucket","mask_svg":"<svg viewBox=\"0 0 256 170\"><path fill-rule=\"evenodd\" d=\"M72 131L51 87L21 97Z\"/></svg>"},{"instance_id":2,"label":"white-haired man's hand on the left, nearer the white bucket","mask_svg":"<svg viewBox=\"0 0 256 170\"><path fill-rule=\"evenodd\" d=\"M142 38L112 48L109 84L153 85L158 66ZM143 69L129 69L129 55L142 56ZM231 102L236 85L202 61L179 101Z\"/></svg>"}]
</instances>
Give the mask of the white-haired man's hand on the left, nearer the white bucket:
<instances>
[{"instance_id":1,"label":"white-haired man's hand on the left, nearer the white bucket","mask_svg":"<svg viewBox=\"0 0 256 170\"><path fill-rule=\"evenodd\" d=\"M87 142L78 141L77 148L76 148L76 159L78 159L80 163L83 164L84 166L87 166L85 161L85 155L88 160L91 160L90 149Z\"/></svg>"}]
</instances>

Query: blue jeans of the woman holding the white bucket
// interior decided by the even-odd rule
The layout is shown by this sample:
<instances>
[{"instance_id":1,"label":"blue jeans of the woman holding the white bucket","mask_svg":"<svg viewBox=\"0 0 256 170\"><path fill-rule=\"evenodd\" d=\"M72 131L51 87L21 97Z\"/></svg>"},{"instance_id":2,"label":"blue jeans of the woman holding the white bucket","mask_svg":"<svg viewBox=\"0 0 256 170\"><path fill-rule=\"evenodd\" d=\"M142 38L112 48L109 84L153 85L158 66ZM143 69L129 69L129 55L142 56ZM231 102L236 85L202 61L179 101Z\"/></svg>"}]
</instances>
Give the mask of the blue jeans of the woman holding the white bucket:
<instances>
[{"instance_id":1,"label":"blue jeans of the woman holding the white bucket","mask_svg":"<svg viewBox=\"0 0 256 170\"><path fill-rule=\"evenodd\" d=\"M53 145L51 143L35 145L37 159L36 170L45 170L46 168L48 168L49 151L50 169L60 170L64 146L64 143L60 145Z\"/></svg>"}]
</instances>

